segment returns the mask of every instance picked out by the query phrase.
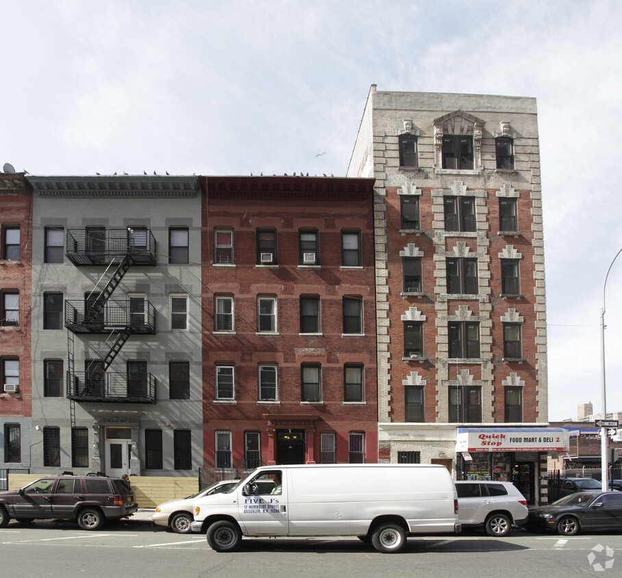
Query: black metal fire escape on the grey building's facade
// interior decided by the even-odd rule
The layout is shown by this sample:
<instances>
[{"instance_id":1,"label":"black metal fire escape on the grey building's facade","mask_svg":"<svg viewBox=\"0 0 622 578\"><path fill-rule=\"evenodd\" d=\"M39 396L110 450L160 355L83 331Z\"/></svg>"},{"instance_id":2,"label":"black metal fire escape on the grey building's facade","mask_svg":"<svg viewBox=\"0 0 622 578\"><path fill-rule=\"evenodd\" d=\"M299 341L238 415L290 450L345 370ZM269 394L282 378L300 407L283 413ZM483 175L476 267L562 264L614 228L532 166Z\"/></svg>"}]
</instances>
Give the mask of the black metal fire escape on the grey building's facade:
<instances>
[{"instance_id":1,"label":"black metal fire escape on the grey building's facade","mask_svg":"<svg viewBox=\"0 0 622 578\"><path fill-rule=\"evenodd\" d=\"M66 255L76 266L105 266L99 282L82 301L65 302L67 397L75 401L156 403L156 378L140 365L125 373L110 366L130 336L156 333L155 308L144 297L112 299L132 266L156 265L156 240L141 229L69 229ZM112 274L110 274L112 271ZM107 279L107 280L106 280ZM103 288L99 286L103 284ZM105 335L101 358L75 368L75 336Z\"/></svg>"}]
</instances>

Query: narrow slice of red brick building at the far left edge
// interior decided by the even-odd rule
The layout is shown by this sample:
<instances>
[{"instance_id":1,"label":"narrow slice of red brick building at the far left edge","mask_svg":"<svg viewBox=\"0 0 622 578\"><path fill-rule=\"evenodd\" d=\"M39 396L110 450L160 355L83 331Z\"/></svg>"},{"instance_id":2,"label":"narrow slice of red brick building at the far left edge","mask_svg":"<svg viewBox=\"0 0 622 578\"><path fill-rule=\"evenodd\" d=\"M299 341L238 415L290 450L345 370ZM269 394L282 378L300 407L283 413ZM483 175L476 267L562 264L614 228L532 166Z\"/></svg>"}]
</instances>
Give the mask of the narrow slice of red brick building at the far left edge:
<instances>
[{"instance_id":1,"label":"narrow slice of red brick building at the far left edge","mask_svg":"<svg viewBox=\"0 0 622 578\"><path fill-rule=\"evenodd\" d=\"M32 192L0 174L0 468L30 466Z\"/></svg>"}]
</instances>

